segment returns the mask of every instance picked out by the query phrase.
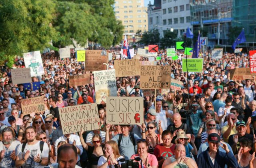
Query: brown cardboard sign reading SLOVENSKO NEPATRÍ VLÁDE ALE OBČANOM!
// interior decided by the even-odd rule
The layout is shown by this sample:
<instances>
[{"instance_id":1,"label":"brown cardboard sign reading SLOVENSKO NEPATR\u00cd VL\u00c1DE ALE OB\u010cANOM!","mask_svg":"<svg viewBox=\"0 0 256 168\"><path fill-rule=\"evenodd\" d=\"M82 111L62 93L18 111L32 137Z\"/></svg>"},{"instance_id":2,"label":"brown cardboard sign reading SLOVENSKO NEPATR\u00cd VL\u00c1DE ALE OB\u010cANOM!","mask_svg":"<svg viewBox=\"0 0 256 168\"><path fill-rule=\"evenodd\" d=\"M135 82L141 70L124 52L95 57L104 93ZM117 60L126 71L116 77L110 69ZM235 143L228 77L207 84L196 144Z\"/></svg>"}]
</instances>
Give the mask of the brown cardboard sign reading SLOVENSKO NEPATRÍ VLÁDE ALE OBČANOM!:
<instances>
[{"instance_id":1,"label":"brown cardboard sign reading SLOVENSKO NEPATR\u00cd VL\u00c1DE ALE OB\u010cANOM!","mask_svg":"<svg viewBox=\"0 0 256 168\"><path fill-rule=\"evenodd\" d=\"M140 88L170 88L171 66L140 66Z\"/></svg>"}]
</instances>

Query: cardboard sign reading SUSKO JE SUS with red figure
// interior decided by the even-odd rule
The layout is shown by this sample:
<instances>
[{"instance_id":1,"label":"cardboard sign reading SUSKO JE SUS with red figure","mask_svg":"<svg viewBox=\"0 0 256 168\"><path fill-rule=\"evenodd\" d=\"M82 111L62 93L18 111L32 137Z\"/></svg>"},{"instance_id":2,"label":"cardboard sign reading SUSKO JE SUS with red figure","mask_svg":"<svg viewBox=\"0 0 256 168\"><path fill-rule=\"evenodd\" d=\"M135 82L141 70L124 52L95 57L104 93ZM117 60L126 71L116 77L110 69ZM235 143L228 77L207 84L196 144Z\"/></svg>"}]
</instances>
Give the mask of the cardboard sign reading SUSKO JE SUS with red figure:
<instances>
[{"instance_id":1,"label":"cardboard sign reading SUSKO JE SUS with red figure","mask_svg":"<svg viewBox=\"0 0 256 168\"><path fill-rule=\"evenodd\" d=\"M108 124L142 124L143 98L142 97L107 97Z\"/></svg>"}]
</instances>

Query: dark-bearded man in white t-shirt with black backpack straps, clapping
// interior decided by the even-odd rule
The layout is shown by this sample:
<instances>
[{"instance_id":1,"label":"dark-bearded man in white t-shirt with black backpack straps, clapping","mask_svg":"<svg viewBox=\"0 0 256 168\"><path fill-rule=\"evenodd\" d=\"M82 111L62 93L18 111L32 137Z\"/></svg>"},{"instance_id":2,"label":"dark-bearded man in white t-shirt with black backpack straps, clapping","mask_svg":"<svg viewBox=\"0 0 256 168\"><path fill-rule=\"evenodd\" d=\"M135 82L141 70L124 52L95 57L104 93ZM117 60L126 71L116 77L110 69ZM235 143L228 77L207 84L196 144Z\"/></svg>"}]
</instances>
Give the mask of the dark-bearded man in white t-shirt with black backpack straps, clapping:
<instances>
[{"instance_id":1,"label":"dark-bearded man in white t-shirt with black backpack straps, clapping","mask_svg":"<svg viewBox=\"0 0 256 168\"><path fill-rule=\"evenodd\" d=\"M44 168L48 164L48 145L43 141L36 140L36 129L32 126L26 128L25 135L28 142L18 146L15 166Z\"/></svg>"}]
</instances>

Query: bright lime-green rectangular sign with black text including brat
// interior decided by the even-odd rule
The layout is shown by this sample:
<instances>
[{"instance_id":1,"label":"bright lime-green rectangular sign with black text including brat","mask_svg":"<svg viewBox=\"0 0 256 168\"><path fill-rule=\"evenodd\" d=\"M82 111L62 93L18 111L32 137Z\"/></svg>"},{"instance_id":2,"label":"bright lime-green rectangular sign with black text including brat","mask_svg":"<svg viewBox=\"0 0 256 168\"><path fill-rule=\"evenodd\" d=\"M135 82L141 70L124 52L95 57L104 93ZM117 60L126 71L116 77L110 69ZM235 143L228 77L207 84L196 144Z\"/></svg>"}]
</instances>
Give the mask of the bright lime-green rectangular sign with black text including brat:
<instances>
[{"instance_id":1,"label":"bright lime-green rectangular sign with black text including brat","mask_svg":"<svg viewBox=\"0 0 256 168\"><path fill-rule=\"evenodd\" d=\"M202 72L203 71L203 58L188 58L188 72ZM186 59L182 59L182 71L187 72Z\"/></svg>"}]
</instances>

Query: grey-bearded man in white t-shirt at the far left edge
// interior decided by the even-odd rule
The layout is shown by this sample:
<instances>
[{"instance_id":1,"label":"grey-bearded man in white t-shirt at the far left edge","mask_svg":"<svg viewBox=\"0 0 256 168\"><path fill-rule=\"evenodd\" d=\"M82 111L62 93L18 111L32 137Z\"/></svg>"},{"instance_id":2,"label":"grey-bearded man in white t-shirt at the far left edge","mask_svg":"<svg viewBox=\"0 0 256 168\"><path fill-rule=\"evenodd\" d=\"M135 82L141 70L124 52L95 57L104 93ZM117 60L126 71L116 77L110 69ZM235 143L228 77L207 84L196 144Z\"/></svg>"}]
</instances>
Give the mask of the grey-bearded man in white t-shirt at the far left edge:
<instances>
[{"instance_id":1,"label":"grey-bearded man in white t-shirt at the far left edge","mask_svg":"<svg viewBox=\"0 0 256 168\"><path fill-rule=\"evenodd\" d=\"M0 167L14 168L16 150L20 141L15 140L13 131L10 127L2 130L3 140L0 142Z\"/></svg>"}]
</instances>

